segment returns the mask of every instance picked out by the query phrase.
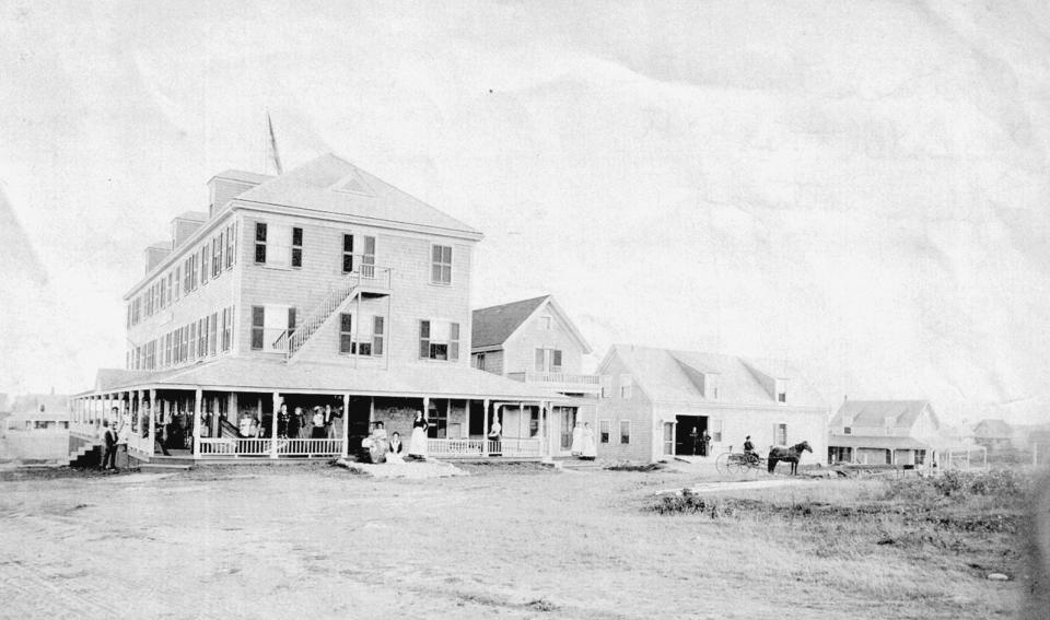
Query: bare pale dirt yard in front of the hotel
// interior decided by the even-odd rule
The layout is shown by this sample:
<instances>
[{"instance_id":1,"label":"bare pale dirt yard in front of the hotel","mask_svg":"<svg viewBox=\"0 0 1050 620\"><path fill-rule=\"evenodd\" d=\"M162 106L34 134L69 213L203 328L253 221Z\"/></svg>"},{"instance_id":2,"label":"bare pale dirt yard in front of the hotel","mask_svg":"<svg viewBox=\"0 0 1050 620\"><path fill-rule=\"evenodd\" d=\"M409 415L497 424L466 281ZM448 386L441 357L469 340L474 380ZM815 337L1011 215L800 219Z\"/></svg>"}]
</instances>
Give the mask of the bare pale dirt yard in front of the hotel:
<instances>
[{"instance_id":1,"label":"bare pale dirt yard in front of the hotel","mask_svg":"<svg viewBox=\"0 0 1050 620\"><path fill-rule=\"evenodd\" d=\"M841 529L839 552L794 516L739 516L767 494L849 502L854 481L737 486L737 516L668 516L655 492L709 483L707 469L468 469L9 475L0 617L1006 618L1025 587L985 578L988 553L1019 571L1008 536L979 558L905 548L879 540L878 516Z\"/></svg>"}]
</instances>

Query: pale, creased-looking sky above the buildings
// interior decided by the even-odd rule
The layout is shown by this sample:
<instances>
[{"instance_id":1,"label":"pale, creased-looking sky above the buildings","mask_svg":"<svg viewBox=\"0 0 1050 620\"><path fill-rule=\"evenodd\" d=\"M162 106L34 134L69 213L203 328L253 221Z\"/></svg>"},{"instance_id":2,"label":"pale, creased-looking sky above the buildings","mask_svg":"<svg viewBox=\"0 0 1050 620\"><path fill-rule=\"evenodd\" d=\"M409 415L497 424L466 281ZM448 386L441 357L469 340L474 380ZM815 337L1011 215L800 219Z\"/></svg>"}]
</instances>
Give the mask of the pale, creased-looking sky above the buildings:
<instances>
[{"instance_id":1,"label":"pale, creased-looking sky above the buildings","mask_svg":"<svg viewBox=\"0 0 1050 620\"><path fill-rule=\"evenodd\" d=\"M486 234L476 307L1050 422L1038 0L0 1L0 391L124 362L207 180L332 152ZM272 172L270 168L269 172Z\"/></svg>"}]
</instances>

